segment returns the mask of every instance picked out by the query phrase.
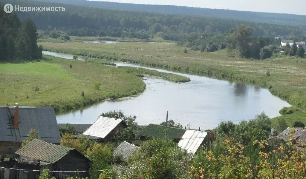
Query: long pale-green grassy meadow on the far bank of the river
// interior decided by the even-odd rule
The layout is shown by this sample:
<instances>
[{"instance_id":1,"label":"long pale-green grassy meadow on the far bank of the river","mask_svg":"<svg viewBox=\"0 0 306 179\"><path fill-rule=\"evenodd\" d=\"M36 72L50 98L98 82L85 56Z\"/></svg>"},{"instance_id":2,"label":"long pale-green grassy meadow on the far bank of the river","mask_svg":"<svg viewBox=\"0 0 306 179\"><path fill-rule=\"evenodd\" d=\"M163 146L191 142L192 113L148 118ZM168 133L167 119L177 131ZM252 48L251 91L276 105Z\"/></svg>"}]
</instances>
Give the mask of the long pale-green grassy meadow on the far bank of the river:
<instances>
[{"instance_id":1,"label":"long pale-green grassy meadow on the far bank of the river","mask_svg":"<svg viewBox=\"0 0 306 179\"><path fill-rule=\"evenodd\" d=\"M59 53L91 55L103 59L112 57L168 70L258 83L290 104L306 109L306 60L301 58L276 56L267 60L249 60L227 57L226 50L215 53L188 50L188 53L184 53L185 47L177 46L174 42L39 44L44 49ZM266 75L267 71L271 71L270 77Z\"/></svg>"}]
</instances>

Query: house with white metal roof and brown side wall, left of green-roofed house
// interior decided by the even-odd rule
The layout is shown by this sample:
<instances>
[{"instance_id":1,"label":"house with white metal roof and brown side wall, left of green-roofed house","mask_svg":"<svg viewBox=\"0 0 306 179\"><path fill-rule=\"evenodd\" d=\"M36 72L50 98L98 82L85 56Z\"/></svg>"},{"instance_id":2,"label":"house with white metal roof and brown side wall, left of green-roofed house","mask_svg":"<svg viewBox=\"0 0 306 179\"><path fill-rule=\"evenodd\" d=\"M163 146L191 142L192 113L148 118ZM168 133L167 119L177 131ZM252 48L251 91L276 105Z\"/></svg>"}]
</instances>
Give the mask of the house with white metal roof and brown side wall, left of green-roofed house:
<instances>
[{"instance_id":1,"label":"house with white metal roof and brown side wall, left of green-roofed house","mask_svg":"<svg viewBox=\"0 0 306 179\"><path fill-rule=\"evenodd\" d=\"M121 132L126 127L122 119L107 118L100 116L83 134L74 137L96 139L97 141L109 141L114 138L117 132Z\"/></svg>"}]
</instances>

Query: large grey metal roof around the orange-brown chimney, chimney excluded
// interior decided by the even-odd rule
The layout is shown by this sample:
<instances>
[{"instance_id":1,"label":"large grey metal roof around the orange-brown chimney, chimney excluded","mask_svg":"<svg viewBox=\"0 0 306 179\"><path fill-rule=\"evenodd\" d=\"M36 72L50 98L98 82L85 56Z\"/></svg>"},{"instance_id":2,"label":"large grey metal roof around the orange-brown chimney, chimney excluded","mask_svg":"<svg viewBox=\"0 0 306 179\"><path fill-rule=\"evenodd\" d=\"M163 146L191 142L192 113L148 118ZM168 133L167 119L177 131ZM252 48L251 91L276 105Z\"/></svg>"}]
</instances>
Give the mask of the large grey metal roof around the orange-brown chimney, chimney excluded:
<instances>
[{"instance_id":1,"label":"large grey metal roof around the orange-brown chimney, chimney excluded","mask_svg":"<svg viewBox=\"0 0 306 179\"><path fill-rule=\"evenodd\" d=\"M10 113L15 113L14 106L9 106L9 110L5 106L0 106L0 134L9 135L0 135L0 141L21 142L25 139L25 137L21 136L27 136L29 131L34 128L37 130L38 136L42 136L41 139L50 143L59 144L60 134L54 108L19 106L17 130L13 128Z\"/></svg>"}]
</instances>

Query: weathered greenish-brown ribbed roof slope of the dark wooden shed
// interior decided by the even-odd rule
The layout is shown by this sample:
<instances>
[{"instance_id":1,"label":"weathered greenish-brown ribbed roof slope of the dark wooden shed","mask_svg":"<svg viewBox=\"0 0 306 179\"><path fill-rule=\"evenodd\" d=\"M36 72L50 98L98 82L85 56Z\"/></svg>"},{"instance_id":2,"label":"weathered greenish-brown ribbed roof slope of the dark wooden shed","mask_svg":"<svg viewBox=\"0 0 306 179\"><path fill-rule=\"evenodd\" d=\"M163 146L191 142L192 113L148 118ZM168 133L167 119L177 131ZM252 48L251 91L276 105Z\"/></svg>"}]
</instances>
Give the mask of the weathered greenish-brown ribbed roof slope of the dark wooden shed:
<instances>
[{"instance_id":1,"label":"weathered greenish-brown ribbed roof slope of the dark wooden shed","mask_svg":"<svg viewBox=\"0 0 306 179\"><path fill-rule=\"evenodd\" d=\"M55 163L72 150L75 149L62 145L51 144L39 139L33 139L24 147L17 150L15 154L48 163Z\"/></svg>"}]
</instances>

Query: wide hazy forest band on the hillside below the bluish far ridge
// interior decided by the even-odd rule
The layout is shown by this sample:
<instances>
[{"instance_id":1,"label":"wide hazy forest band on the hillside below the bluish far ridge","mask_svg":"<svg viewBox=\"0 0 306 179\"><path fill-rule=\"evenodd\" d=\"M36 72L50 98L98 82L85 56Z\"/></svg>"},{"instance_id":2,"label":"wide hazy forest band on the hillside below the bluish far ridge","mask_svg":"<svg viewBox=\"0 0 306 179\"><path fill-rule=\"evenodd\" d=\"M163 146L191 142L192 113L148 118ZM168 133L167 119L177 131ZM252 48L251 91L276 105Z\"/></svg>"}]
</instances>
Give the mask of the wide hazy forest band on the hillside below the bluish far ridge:
<instances>
[{"instance_id":1,"label":"wide hazy forest band on the hillside below the bluish far ridge","mask_svg":"<svg viewBox=\"0 0 306 179\"><path fill-rule=\"evenodd\" d=\"M154 14L82 7L48 2L5 0L13 6L63 6L58 12L17 12L22 19L34 20L38 28L56 28L74 36L112 36L147 39L159 33L166 40L178 40L190 33L224 33L240 24L252 27L254 36L291 36L302 38L306 31L300 27L240 20L204 18L200 16Z\"/></svg>"}]
</instances>

